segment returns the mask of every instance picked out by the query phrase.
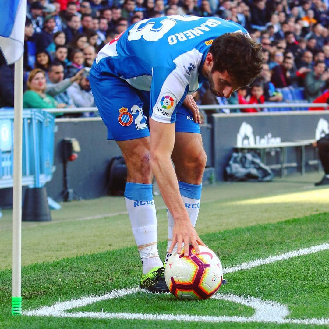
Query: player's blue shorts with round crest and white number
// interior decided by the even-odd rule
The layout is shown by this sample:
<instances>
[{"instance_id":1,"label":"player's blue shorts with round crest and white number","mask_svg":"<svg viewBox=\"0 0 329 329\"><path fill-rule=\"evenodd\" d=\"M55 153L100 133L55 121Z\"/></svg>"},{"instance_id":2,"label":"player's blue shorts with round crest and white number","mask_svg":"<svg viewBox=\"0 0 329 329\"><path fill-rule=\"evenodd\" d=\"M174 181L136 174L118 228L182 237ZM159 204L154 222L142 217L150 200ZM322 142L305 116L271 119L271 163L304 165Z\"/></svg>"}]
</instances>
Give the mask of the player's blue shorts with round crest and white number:
<instances>
[{"instance_id":1,"label":"player's blue shorts with round crest and white number","mask_svg":"<svg viewBox=\"0 0 329 329\"><path fill-rule=\"evenodd\" d=\"M99 73L94 63L90 70L90 87L99 114L107 127L107 139L128 140L150 136L150 92L135 89L125 80ZM176 107L176 132L198 133L185 106ZM172 116L174 116L173 114Z\"/></svg>"}]
</instances>

